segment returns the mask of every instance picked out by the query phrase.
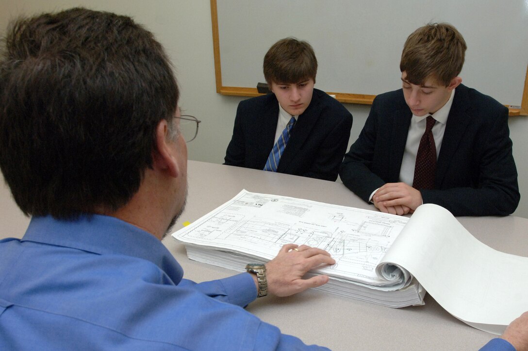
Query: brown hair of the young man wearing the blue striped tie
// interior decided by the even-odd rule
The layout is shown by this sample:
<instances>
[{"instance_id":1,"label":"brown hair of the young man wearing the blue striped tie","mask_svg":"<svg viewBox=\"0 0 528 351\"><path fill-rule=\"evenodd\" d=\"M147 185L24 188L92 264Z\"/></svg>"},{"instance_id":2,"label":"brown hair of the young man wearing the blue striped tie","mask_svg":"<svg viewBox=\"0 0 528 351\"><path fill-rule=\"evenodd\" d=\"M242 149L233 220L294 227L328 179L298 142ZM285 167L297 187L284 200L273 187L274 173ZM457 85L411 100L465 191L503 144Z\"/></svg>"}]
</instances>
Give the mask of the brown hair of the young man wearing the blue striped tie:
<instances>
[{"instance_id":1,"label":"brown hair of the young man wearing the blue striped tie","mask_svg":"<svg viewBox=\"0 0 528 351\"><path fill-rule=\"evenodd\" d=\"M292 37L281 39L269 48L264 56L264 78L271 82L296 84L313 79L317 74L317 59L308 42Z\"/></svg>"}]
</instances>

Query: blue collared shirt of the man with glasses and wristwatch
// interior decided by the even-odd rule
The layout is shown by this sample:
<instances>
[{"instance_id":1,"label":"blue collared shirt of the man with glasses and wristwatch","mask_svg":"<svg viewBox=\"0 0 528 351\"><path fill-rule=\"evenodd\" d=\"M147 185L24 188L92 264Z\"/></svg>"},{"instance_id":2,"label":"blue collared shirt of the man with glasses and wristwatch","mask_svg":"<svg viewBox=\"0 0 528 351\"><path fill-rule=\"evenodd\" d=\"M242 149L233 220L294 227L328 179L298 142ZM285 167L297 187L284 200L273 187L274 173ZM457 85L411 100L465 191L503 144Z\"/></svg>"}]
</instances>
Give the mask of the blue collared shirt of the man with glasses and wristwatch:
<instances>
[{"instance_id":1,"label":"blue collared shirt of the man with glasses and wristwatch","mask_svg":"<svg viewBox=\"0 0 528 351\"><path fill-rule=\"evenodd\" d=\"M0 349L308 349L243 309L250 274L195 283L114 217L34 217L0 241Z\"/></svg>"}]
</instances>

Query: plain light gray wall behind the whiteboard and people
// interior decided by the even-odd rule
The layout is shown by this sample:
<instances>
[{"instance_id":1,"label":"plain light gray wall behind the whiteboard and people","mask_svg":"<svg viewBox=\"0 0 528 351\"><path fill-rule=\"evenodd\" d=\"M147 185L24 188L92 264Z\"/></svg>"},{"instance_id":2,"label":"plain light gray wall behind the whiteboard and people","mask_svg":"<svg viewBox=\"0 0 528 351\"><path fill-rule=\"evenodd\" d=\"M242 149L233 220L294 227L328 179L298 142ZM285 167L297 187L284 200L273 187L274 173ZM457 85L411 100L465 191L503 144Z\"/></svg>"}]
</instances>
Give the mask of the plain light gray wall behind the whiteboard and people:
<instances>
[{"instance_id":1,"label":"plain light gray wall behind the whiteboard and people","mask_svg":"<svg viewBox=\"0 0 528 351\"><path fill-rule=\"evenodd\" d=\"M8 18L20 13L34 14L82 4L97 10L129 14L157 35L174 63L182 89L182 109L203 121L198 137L187 145L189 159L222 163L238 103L244 98L216 93L209 1L0 0L0 29L5 29ZM365 123L370 106L346 104L345 107L354 116L352 143ZM521 191L521 203L514 214L528 218L528 160L525 156L528 117L510 118L510 129Z\"/></svg>"}]
</instances>

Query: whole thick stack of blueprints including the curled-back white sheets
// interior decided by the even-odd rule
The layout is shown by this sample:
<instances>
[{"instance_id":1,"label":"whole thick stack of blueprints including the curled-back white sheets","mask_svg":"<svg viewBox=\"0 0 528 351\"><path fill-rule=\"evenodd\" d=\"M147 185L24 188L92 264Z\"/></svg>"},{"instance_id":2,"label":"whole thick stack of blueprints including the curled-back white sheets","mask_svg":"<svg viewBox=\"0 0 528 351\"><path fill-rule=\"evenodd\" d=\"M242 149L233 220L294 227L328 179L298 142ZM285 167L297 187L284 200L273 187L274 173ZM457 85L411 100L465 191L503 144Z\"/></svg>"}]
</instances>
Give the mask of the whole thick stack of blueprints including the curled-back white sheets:
<instances>
[{"instance_id":1,"label":"whole thick stack of blueprints including the curled-back white sheets","mask_svg":"<svg viewBox=\"0 0 528 351\"><path fill-rule=\"evenodd\" d=\"M324 249L336 263L308 273L331 278L316 289L390 307L421 305L427 289L451 315L495 334L528 306L528 258L489 248L433 204L409 219L243 190L172 235L190 259L235 271L288 243Z\"/></svg>"}]
</instances>

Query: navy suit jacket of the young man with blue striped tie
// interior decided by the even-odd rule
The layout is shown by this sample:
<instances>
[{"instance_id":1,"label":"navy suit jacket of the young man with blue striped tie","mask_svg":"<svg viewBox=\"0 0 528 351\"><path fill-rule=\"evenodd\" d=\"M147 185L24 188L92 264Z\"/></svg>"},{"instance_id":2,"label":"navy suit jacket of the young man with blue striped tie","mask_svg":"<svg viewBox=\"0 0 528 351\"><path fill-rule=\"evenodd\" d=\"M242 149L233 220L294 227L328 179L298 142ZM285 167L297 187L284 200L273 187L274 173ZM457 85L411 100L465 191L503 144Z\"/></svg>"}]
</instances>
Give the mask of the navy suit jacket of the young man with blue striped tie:
<instances>
[{"instance_id":1,"label":"navy suit jacket of the young man with blue striped tie","mask_svg":"<svg viewBox=\"0 0 528 351\"><path fill-rule=\"evenodd\" d=\"M276 141L278 118L274 93L241 101L224 164L263 169ZM277 172L335 181L351 128L350 112L314 89L310 105L291 129Z\"/></svg>"}]
</instances>

